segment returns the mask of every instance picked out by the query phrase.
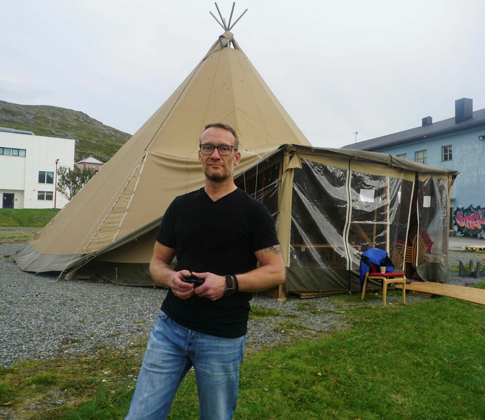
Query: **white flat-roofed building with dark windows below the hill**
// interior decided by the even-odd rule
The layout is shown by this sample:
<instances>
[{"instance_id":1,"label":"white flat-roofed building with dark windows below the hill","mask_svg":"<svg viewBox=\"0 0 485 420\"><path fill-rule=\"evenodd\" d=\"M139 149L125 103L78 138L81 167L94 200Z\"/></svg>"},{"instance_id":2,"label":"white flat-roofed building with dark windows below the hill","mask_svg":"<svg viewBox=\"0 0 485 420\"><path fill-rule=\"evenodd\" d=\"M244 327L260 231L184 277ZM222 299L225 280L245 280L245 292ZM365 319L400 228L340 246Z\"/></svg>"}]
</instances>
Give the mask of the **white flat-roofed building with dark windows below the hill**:
<instances>
[{"instance_id":1,"label":"white flat-roofed building with dark windows below the hill","mask_svg":"<svg viewBox=\"0 0 485 420\"><path fill-rule=\"evenodd\" d=\"M1 207L64 207L68 200L55 192L56 160L57 167L73 168L74 140L20 133L30 132L0 130Z\"/></svg>"}]
</instances>

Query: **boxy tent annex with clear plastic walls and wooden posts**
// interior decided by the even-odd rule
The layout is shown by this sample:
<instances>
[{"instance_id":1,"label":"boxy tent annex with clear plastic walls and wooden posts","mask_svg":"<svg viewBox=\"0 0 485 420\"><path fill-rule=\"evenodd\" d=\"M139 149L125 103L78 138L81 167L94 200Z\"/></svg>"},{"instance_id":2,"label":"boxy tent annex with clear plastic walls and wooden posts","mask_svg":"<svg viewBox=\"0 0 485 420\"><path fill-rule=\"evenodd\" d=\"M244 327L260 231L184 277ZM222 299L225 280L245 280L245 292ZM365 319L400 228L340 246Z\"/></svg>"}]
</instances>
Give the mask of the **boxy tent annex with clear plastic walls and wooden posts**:
<instances>
[{"instance_id":1,"label":"boxy tent annex with clear plastic walls and wooden posts","mask_svg":"<svg viewBox=\"0 0 485 420\"><path fill-rule=\"evenodd\" d=\"M360 290L360 257L370 247L409 278L445 281L457 175L383 153L284 145L236 184L275 218L287 276L273 295L309 297Z\"/></svg>"}]
</instances>

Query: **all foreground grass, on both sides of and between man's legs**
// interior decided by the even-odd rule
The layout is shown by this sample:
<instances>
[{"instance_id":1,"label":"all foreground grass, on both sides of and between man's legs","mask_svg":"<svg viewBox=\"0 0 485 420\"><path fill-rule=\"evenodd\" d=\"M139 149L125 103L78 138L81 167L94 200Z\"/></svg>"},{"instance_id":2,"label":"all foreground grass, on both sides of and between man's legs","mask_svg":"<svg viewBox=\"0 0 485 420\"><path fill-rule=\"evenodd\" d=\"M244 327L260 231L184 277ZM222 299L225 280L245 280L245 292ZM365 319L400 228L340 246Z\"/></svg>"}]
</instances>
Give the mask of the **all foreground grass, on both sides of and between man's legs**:
<instances>
[{"instance_id":1,"label":"all foreground grass, on both sides of and between man's legs","mask_svg":"<svg viewBox=\"0 0 485 420\"><path fill-rule=\"evenodd\" d=\"M246 357L234 419L485 418L485 308L441 297L342 311L352 322L344 331ZM0 370L2 410L21 420L123 419L144 346ZM46 405L56 398L64 402ZM29 411L32 403L46 408ZM197 415L190 373L169 419Z\"/></svg>"}]
</instances>

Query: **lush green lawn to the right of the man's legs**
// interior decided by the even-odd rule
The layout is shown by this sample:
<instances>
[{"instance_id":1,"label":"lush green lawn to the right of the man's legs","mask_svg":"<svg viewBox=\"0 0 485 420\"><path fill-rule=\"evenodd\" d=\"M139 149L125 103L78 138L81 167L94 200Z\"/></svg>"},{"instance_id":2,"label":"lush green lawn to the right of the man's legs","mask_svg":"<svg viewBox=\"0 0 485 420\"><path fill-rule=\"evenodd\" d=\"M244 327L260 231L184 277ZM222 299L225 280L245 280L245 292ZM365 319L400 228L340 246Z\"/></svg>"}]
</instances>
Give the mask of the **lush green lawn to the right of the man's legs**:
<instances>
[{"instance_id":1,"label":"lush green lawn to the right of the man's legs","mask_svg":"<svg viewBox=\"0 0 485 420\"><path fill-rule=\"evenodd\" d=\"M483 308L443 298L358 313L351 330L253 357L237 419L484 418ZM459 314L475 317L462 331Z\"/></svg>"}]
</instances>

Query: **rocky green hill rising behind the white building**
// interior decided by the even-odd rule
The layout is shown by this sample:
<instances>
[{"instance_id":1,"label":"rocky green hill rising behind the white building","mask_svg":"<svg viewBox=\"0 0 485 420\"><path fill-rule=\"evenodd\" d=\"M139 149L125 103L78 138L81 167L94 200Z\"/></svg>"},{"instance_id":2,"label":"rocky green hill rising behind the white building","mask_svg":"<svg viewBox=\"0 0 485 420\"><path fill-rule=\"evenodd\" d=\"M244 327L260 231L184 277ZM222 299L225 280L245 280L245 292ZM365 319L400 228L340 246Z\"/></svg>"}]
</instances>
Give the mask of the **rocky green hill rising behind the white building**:
<instances>
[{"instance_id":1,"label":"rocky green hill rising behind the white building","mask_svg":"<svg viewBox=\"0 0 485 420\"><path fill-rule=\"evenodd\" d=\"M106 162L131 137L131 134L105 126L84 112L2 100L0 127L32 131L36 136L74 139L76 162L88 156Z\"/></svg>"}]
</instances>

